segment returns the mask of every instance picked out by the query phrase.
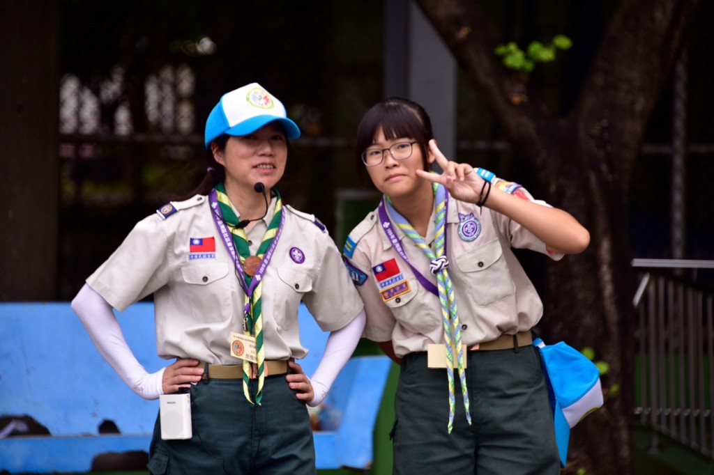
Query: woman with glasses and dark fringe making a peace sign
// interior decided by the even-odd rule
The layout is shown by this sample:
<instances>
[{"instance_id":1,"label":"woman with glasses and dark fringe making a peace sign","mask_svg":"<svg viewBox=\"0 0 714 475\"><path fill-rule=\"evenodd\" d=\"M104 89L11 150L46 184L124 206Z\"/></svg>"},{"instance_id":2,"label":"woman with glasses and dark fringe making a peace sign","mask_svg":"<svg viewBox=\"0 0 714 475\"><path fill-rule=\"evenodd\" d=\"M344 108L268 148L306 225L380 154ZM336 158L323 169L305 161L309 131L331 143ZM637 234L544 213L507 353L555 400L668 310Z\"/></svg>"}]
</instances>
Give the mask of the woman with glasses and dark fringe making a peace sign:
<instances>
[{"instance_id":1,"label":"woman with glasses and dark fringe making a peace sign","mask_svg":"<svg viewBox=\"0 0 714 475\"><path fill-rule=\"evenodd\" d=\"M588 231L521 185L448 160L406 99L363 116L356 151L383 198L343 255L364 336L401 364L394 473L558 474L531 344L543 305L511 247L559 260L585 250Z\"/></svg>"}]
</instances>

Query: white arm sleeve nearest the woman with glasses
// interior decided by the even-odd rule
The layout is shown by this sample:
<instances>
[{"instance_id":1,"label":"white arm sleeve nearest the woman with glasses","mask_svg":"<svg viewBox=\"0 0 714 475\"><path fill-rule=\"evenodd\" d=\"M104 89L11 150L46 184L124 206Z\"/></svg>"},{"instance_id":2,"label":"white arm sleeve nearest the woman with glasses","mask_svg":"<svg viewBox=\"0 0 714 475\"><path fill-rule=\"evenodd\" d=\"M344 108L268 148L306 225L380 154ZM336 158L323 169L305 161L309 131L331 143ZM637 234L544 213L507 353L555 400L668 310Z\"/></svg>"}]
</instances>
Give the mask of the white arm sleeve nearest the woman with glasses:
<instances>
[{"instance_id":1,"label":"white arm sleeve nearest the woman with glasses","mask_svg":"<svg viewBox=\"0 0 714 475\"><path fill-rule=\"evenodd\" d=\"M325 354L320 359L315 374L310 378L315 397L311 402L308 402L308 406L316 407L325 399L332 383L335 382L337 375L347 364L357 347L366 320L364 309L362 309L345 327L330 332L325 345Z\"/></svg>"}]
</instances>

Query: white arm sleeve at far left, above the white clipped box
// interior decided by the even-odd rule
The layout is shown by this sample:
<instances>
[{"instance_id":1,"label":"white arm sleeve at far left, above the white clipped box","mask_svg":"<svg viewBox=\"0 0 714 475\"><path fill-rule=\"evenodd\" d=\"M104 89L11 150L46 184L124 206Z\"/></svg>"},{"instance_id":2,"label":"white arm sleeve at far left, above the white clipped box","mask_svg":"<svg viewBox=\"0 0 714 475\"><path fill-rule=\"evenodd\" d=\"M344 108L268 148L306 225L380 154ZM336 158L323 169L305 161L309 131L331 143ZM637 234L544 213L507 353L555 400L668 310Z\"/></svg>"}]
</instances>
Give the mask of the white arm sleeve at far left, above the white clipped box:
<instances>
[{"instance_id":1,"label":"white arm sleeve at far left, above the white clipped box","mask_svg":"<svg viewBox=\"0 0 714 475\"><path fill-rule=\"evenodd\" d=\"M126 344L119 321L104 297L85 284L72 300L72 310L79 316L101 356L127 386L144 399L158 399L160 394L164 394L161 380L166 368L153 374L146 372Z\"/></svg>"}]
</instances>

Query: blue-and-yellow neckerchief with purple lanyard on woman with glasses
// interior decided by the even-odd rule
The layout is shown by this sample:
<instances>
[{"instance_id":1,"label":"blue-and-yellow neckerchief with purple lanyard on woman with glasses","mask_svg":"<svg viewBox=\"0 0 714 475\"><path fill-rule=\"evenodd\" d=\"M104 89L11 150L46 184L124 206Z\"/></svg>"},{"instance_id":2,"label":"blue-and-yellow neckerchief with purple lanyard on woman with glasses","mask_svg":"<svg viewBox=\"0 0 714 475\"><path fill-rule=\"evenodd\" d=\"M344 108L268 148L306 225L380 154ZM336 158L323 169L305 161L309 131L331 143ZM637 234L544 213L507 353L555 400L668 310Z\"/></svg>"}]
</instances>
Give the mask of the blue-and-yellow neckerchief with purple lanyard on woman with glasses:
<instances>
[{"instance_id":1,"label":"blue-and-yellow neckerchief with purple lanyard on woman with glasses","mask_svg":"<svg viewBox=\"0 0 714 475\"><path fill-rule=\"evenodd\" d=\"M446 340L446 374L448 376L449 389L448 433L451 434L451 430L453 429L453 419L456 413L456 395L453 379L453 370L455 367L458 369L459 379L461 382L461 394L463 395L463 404L466 412L466 420L469 425L471 425L471 411L469 409L470 404L468 399L468 389L466 387L466 372L463 368L465 354L463 352L463 345L461 344L461 325L458 321L458 309L456 307L456 299L453 295L451 279L448 277L448 272L446 270L448 267L448 259L446 257L446 215L448 214L448 193L446 191L446 187L439 185L438 183L432 183L432 189L435 196L434 208L436 210L436 252L431 250L431 247L429 247L423 238L418 235L416 230L414 230L411 224L408 223L406 218L404 218L393 207L386 195L382 197L382 200L379 203L378 215L381 227L387 235L388 240L391 242L394 250L396 250L398 255L400 255L412 268L414 275L421 285L423 285L423 287L425 287L429 292L437 295L439 302L441 303L444 339ZM387 210L389 215L387 215ZM405 234L413 240L417 247L420 247L431 260L429 269L431 270L431 273L436 275L438 288L435 287L430 280L421 275L421 272L418 272L418 270L416 270L416 268L411 264L411 261L406 255L406 252L404 252L396 233L392 229L389 216L393 218L398 227L401 228Z\"/></svg>"}]
</instances>

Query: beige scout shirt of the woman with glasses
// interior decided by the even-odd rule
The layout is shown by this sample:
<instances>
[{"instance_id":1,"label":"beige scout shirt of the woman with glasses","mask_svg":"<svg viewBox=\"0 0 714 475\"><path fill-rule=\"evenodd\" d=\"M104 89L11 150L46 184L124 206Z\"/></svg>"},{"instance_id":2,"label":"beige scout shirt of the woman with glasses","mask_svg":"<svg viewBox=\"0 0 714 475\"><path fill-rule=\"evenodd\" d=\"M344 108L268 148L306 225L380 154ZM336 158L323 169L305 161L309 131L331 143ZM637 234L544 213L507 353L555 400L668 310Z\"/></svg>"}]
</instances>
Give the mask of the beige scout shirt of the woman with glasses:
<instances>
[{"instance_id":1,"label":"beige scout shirt of the woman with glasses","mask_svg":"<svg viewBox=\"0 0 714 475\"><path fill-rule=\"evenodd\" d=\"M547 205L543 201L535 203ZM543 304L523 267L510 249L504 252L501 247L491 213L496 212L488 208L480 212L478 206L472 203L449 197L446 218L448 273L456 295L463 342L469 346L491 341L501 334L530 330L543 315ZM542 252L554 260L563 257L561 254L549 254L545 243L515 221L500 213L496 213L496 219L501 233L513 247ZM432 213L426 235L426 242L432 249L433 220ZM468 225L466 230L461 225L462 220L464 225ZM478 227L473 220L478 221ZM353 265L358 270L350 271L365 305L367 323L363 336L376 342L393 340L398 357L426 351L428 344L444 342L441 305L438 297L418 282L408 263L393 249L378 222L376 211L367 215L350 234L351 241L356 243L352 255L346 252L348 266ZM411 264L436 286L436 277L429 272L428 257L405 237L401 229L396 225L392 228ZM475 228L478 234L474 232ZM373 269L391 259L395 259L398 273L408 282L409 291L397 297L386 294L388 300L384 301ZM359 277L364 279L365 276L360 285ZM398 281L397 274L391 282ZM401 292L403 290L404 287L401 287Z\"/></svg>"}]
</instances>

